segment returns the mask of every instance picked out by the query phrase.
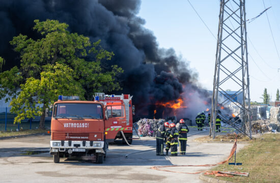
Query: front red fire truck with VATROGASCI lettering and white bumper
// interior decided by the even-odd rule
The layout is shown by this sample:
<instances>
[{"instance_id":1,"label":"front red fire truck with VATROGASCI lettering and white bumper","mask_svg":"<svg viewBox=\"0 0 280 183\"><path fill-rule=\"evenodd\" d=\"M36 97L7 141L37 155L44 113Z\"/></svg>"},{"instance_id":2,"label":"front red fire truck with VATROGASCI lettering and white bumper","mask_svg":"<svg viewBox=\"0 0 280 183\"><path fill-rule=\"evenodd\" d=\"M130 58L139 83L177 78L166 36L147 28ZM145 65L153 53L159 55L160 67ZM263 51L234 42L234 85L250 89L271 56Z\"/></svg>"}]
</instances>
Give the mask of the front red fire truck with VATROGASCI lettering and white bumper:
<instances>
[{"instance_id":1,"label":"front red fire truck with VATROGASCI lettering and white bumper","mask_svg":"<svg viewBox=\"0 0 280 183\"><path fill-rule=\"evenodd\" d=\"M50 154L60 157L93 156L103 163L108 143L105 107L99 101L79 101L77 96L59 96L53 104Z\"/></svg>"}]
</instances>

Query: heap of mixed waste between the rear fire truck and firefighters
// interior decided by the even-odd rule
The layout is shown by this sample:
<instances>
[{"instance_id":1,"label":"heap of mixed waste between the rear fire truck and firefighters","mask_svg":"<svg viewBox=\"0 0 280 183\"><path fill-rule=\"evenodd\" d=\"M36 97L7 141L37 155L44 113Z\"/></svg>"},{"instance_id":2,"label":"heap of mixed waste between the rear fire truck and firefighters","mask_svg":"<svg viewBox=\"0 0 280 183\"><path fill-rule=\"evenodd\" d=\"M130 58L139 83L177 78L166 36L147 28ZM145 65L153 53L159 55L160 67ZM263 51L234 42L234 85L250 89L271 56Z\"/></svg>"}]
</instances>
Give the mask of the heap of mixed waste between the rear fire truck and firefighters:
<instances>
[{"instance_id":1,"label":"heap of mixed waste between the rear fire truck and firefighters","mask_svg":"<svg viewBox=\"0 0 280 183\"><path fill-rule=\"evenodd\" d=\"M165 122L164 119L140 119L137 121L138 125L138 134L140 136L156 136L156 130L158 127Z\"/></svg>"}]
</instances>

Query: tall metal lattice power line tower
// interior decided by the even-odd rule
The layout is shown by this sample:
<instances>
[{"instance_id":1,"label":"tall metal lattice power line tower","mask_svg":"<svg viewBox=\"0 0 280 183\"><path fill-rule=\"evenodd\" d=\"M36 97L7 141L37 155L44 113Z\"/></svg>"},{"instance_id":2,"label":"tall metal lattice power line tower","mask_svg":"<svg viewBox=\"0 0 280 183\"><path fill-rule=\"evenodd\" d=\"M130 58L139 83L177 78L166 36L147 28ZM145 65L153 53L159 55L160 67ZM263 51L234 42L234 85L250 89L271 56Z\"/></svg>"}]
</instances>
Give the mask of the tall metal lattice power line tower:
<instances>
[{"instance_id":1,"label":"tall metal lattice power line tower","mask_svg":"<svg viewBox=\"0 0 280 183\"><path fill-rule=\"evenodd\" d=\"M215 138L216 114L229 126L251 138L250 95L247 53L245 0L220 0L216 63L212 96L210 136ZM236 91L229 95L227 90ZM242 97L242 102L237 98ZM241 126L230 119L221 106L238 109ZM232 114L230 114L232 115ZM213 123L213 126L211 126Z\"/></svg>"}]
</instances>

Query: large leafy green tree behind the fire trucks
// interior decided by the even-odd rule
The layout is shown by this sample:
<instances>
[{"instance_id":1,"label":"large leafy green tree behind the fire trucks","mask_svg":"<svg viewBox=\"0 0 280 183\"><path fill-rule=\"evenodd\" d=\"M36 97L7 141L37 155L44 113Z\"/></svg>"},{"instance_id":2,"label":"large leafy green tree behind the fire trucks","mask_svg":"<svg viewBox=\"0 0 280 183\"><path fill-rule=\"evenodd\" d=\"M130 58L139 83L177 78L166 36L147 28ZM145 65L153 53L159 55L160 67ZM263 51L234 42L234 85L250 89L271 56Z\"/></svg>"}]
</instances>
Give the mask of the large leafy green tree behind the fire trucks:
<instances>
[{"instance_id":1,"label":"large leafy green tree behind the fire trucks","mask_svg":"<svg viewBox=\"0 0 280 183\"><path fill-rule=\"evenodd\" d=\"M34 22L42 38L14 37L10 43L20 53L20 68L0 74L0 97L11 94L15 122L41 115L40 128L44 128L44 111L58 95L92 100L95 92L121 88L116 79L123 70L116 65L102 67L114 53L104 50L100 40L91 43L88 37L68 32L68 25L57 20Z\"/></svg>"}]
</instances>

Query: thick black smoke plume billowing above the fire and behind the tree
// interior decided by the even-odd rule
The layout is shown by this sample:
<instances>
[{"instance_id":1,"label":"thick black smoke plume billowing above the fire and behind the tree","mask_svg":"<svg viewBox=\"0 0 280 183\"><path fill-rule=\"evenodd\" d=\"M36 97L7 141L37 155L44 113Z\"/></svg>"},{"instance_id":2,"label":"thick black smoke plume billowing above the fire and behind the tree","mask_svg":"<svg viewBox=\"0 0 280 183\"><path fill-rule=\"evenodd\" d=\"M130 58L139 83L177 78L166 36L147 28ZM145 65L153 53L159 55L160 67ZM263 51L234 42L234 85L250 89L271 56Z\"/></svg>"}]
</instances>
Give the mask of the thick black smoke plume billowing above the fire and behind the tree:
<instances>
[{"instance_id":1,"label":"thick black smoke plume billowing above the fire and behind the tree","mask_svg":"<svg viewBox=\"0 0 280 183\"><path fill-rule=\"evenodd\" d=\"M140 0L1 0L0 55L6 59L4 70L19 66L19 55L9 41L18 34L33 39L34 20L56 19L69 24L69 31L101 39L102 46L115 53L108 63L124 69L122 93L133 95L138 117L148 105L177 100L183 85L195 81L186 62L173 48L159 48L152 31L138 17ZM187 44L187 43L186 43ZM172 46L172 45L171 45Z\"/></svg>"}]
</instances>

